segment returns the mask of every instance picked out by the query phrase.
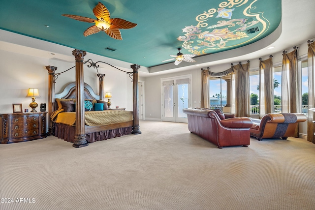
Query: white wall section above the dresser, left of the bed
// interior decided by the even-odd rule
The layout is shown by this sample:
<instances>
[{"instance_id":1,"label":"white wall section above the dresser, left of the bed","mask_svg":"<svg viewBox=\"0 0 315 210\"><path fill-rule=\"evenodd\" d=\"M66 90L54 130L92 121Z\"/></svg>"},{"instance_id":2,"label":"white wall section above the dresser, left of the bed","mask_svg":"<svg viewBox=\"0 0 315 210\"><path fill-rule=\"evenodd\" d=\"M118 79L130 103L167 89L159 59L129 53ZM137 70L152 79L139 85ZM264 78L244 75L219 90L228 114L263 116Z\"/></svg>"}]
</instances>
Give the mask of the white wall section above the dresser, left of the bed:
<instances>
[{"instance_id":1,"label":"white wall section above the dresser, left of the bed","mask_svg":"<svg viewBox=\"0 0 315 210\"><path fill-rule=\"evenodd\" d=\"M0 51L0 112L12 113L12 104L21 103L30 109L31 97L26 97L29 88L38 88L40 97L36 103L48 103L47 59ZM39 108L36 109L39 111Z\"/></svg>"}]
</instances>

